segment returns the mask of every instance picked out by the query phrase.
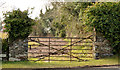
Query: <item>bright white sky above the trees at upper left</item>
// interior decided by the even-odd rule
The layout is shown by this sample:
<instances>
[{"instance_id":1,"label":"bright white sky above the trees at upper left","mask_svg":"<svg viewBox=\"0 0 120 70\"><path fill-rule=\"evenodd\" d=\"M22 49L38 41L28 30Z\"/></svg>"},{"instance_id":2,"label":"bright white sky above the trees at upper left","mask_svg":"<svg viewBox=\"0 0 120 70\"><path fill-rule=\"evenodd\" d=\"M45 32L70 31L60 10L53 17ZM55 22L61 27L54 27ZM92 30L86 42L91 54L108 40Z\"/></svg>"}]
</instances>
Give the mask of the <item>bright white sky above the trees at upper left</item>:
<instances>
[{"instance_id":1,"label":"bright white sky above the trees at upper left","mask_svg":"<svg viewBox=\"0 0 120 70\"><path fill-rule=\"evenodd\" d=\"M41 9L43 13L45 13L45 6L51 7L48 0L0 0L0 6L0 18L2 20L2 12L12 11L13 9L19 8L21 11L24 11L29 8L29 11L31 11L30 8L34 8L33 13L30 15L30 17L34 19L35 17L39 17Z\"/></svg>"}]
</instances>

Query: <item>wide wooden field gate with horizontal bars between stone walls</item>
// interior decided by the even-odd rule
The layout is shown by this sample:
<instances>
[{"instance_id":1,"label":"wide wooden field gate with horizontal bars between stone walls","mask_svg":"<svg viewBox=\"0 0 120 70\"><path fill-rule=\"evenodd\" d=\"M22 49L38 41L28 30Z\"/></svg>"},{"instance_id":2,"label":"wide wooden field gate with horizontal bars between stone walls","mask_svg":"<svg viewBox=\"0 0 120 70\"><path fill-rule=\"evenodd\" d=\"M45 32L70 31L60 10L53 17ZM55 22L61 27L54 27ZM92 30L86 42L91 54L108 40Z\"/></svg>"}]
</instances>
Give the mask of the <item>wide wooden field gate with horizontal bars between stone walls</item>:
<instances>
[{"instance_id":1,"label":"wide wooden field gate with horizontal bars between stone walls","mask_svg":"<svg viewBox=\"0 0 120 70\"><path fill-rule=\"evenodd\" d=\"M86 61L94 57L94 36L28 37L30 61Z\"/></svg>"}]
</instances>

